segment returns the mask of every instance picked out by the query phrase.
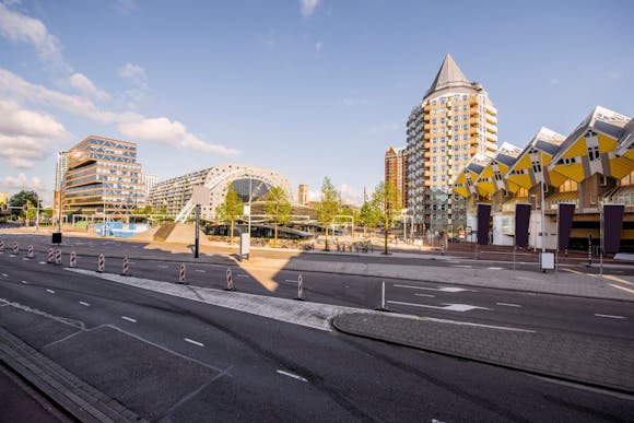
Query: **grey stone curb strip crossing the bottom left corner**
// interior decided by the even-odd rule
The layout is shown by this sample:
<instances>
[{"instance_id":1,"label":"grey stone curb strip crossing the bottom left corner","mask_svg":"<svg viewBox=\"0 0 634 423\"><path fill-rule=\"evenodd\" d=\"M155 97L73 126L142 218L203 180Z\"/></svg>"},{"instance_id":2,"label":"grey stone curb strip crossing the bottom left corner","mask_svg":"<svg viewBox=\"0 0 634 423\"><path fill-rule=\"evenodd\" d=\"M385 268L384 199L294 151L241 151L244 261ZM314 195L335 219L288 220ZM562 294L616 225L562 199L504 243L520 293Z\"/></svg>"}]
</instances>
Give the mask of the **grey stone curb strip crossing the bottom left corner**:
<instances>
[{"instance_id":1,"label":"grey stone curb strip crossing the bottom left corner","mask_svg":"<svg viewBox=\"0 0 634 423\"><path fill-rule=\"evenodd\" d=\"M81 422L146 422L0 327L0 361Z\"/></svg>"}]
</instances>

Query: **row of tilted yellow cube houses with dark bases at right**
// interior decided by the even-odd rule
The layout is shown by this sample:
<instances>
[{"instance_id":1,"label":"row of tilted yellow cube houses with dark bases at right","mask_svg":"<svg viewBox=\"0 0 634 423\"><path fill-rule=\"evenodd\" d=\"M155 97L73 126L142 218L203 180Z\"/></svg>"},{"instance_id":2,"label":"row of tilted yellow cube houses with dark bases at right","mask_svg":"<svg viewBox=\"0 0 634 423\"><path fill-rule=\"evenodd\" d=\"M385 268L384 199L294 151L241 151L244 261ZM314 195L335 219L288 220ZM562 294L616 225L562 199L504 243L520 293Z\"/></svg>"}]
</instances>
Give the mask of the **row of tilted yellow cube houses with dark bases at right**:
<instances>
[{"instance_id":1,"label":"row of tilted yellow cube houses with dark bases at right","mask_svg":"<svg viewBox=\"0 0 634 423\"><path fill-rule=\"evenodd\" d=\"M599 247L608 226L615 226L617 250L634 250L633 132L634 119L597 106L567 137L541 128L524 150L504 143L474 155L451 180L467 199L468 228L488 243L517 245L516 210L525 204L528 245L561 249L566 204L571 249ZM611 214L613 209L621 212Z\"/></svg>"}]
</instances>

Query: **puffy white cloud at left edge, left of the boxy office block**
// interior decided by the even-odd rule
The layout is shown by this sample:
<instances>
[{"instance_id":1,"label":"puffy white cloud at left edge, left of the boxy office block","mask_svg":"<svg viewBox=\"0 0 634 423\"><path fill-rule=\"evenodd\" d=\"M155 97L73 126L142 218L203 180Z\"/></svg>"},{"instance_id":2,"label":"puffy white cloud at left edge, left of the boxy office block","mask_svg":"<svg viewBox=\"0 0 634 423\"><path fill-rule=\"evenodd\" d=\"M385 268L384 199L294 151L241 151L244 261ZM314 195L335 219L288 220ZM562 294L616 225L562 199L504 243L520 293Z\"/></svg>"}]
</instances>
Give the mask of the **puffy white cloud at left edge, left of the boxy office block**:
<instances>
[{"instance_id":1,"label":"puffy white cloud at left edge, left of the boxy office block","mask_svg":"<svg viewBox=\"0 0 634 423\"><path fill-rule=\"evenodd\" d=\"M51 116L0 101L0 157L16 168L31 168L58 142L70 139L63 125Z\"/></svg>"}]
</instances>

